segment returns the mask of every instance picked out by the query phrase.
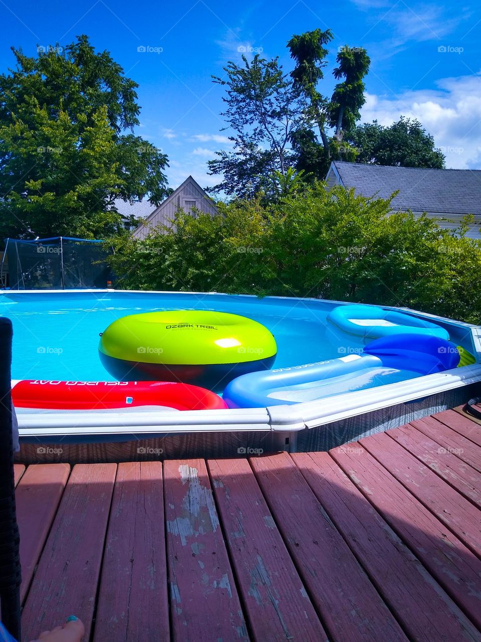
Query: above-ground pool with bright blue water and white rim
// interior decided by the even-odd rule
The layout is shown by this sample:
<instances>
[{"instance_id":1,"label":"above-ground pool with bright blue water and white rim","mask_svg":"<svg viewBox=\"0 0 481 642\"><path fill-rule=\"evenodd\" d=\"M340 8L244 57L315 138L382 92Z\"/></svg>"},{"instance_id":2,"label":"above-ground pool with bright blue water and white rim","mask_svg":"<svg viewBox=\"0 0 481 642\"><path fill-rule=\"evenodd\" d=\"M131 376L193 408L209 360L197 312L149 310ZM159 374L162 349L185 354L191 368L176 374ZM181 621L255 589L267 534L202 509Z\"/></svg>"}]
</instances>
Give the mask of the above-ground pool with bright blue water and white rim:
<instances>
[{"instance_id":1,"label":"above-ground pool with bright blue water and white rim","mask_svg":"<svg viewBox=\"0 0 481 642\"><path fill-rule=\"evenodd\" d=\"M274 369L350 358L362 354L367 338L350 334L328 322L328 315L341 302L317 299L288 299L218 293L165 293L135 291L4 291L1 314L13 323L12 379L55 381L113 381L99 359L99 334L115 320L165 310L195 309L233 313L267 327L277 343ZM389 310L380 309L389 318ZM448 319L407 311L416 322L434 322L444 328L451 342L475 356L477 363L421 376L409 368L386 370L382 376L364 378L353 387L342 377L323 398L298 395L295 406L277 401L275 408L231 408L215 411L155 413L154 409L128 415L90 413L88 419L76 413L28 412L20 415L24 435L35 431L69 429L70 435L130 430L145 433L196 430L299 430L320 426L344 417L360 415L440 394L481 379L480 328ZM391 313L392 316L392 313ZM395 317L395 315L394 315ZM392 318L394 318L392 317ZM352 320L355 322L355 320ZM389 321L385 322L389 324ZM344 383L343 383L344 381ZM181 416L180 416L181 415ZM137 430L138 429L138 430ZM29 433L30 431L30 433Z\"/></svg>"}]
</instances>

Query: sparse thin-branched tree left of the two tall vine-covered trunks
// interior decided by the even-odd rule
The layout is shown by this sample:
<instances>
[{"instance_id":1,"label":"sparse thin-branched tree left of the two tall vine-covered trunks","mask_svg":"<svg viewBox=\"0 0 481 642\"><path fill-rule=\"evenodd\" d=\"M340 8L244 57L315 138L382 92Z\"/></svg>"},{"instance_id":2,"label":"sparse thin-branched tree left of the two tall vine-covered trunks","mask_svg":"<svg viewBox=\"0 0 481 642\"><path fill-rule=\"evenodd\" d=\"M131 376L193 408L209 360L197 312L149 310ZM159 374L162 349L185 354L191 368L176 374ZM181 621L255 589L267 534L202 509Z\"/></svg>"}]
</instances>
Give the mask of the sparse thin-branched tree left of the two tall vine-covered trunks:
<instances>
[{"instance_id":1,"label":"sparse thin-branched tree left of the two tall vine-covered trunks","mask_svg":"<svg viewBox=\"0 0 481 642\"><path fill-rule=\"evenodd\" d=\"M303 103L278 58L256 54L251 62L242 56L242 63L228 62L227 80L212 76L226 87L221 116L235 135L229 137L233 152L216 152L219 158L208 161L208 173L224 175L210 191L245 198L258 191L262 177L276 170L285 174L291 165L291 133L299 126Z\"/></svg>"}]
</instances>

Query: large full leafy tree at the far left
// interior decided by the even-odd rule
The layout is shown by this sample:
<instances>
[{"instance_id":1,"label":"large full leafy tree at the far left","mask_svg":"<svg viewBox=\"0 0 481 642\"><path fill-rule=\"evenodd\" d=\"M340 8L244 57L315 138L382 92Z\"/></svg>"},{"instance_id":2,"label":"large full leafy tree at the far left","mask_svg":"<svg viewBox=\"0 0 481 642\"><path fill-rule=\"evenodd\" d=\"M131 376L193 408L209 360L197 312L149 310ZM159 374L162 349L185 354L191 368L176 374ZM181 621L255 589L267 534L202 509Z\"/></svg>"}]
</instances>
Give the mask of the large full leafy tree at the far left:
<instances>
[{"instance_id":1,"label":"large full leafy tree at the far left","mask_svg":"<svg viewBox=\"0 0 481 642\"><path fill-rule=\"evenodd\" d=\"M2 238L102 238L121 227L116 197L159 203L167 157L131 133L138 85L110 54L85 35L37 58L12 51L16 69L0 76Z\"/></svg>"}]
</instances>

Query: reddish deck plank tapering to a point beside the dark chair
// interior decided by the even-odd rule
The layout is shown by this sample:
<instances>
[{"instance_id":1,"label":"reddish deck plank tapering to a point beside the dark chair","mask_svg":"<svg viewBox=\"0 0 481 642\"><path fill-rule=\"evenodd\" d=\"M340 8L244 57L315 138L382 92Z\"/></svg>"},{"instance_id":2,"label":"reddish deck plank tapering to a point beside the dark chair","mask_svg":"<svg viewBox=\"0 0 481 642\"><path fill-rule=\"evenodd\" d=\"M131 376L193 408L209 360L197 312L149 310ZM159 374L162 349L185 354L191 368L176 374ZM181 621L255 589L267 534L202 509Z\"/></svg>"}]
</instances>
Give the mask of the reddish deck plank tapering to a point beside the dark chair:
<instances>
[{"instance_id":1,"label":"reddish deck plank tapering to a point beside the dark chair","mask_svg":"<svg viewBox=\"0 0 481 642\"><path fill-rule=\"evenodd\" d=\"M31 465L15 491L22 564L21 602L30 586L69 473L69 464Z\"/></svg>"}]
</instances>

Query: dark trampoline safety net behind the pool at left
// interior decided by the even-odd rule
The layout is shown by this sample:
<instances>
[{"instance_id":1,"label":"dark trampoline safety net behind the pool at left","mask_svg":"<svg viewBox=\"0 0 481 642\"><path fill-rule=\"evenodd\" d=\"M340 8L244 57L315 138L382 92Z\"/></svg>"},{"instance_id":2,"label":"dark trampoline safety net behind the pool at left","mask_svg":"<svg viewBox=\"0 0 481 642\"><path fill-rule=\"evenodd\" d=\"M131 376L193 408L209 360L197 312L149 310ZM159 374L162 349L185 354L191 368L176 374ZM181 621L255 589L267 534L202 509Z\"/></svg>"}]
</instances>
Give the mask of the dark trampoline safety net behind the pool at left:
<instances>
[{"instance_id":1,"label":"dark trampoline safety net behind the pool at left","mask_svg":"<svg viewBox=\"0 0 481 642\"><path fill-rule=\"evenodd\" d=\"M2 286L8 285L11 290L106 288L107 282L112 281L106 263L111 253L103 241L89 239L5 239Z\"/></svg>"}]
</instances>

